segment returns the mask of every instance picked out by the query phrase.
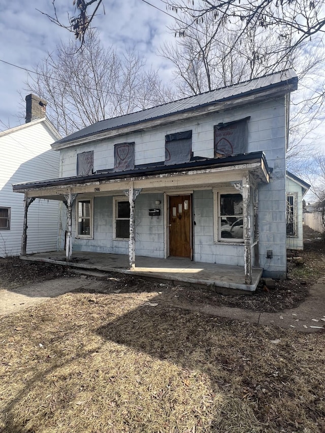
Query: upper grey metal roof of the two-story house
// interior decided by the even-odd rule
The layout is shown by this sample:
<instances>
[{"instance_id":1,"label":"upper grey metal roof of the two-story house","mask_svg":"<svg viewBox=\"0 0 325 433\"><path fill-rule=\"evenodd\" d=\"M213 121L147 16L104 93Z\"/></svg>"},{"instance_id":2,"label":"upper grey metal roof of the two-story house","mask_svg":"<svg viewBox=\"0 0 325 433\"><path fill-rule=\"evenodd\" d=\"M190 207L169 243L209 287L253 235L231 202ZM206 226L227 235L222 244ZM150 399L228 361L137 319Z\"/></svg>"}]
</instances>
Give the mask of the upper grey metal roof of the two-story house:
<instances>
[{"instance_id":1,"label":"upper grey metal roof of the two-story house","mask_svg":"<svg viewBox=\"0 0 325 433\"><path fill-rule=\"evenodd\" d=\"M273 74L244 81L232 86L211 90L199 95L189 96L157 107L96 122L80 131L74 132L74 134L71 134L68 137L56 141L54 147L56 144L68 143L74 140L91 137L105 130L118 129L123 126L134 125L144 121L170 116L175 113L190 111L198 107L221 103L246 95L262 93L276 87L279 89L282 88L283 93L288 93L291 90L296 90L297 85L298 77L294 70L288 69L281 72L275 72Z\"/></svg>"}]
</instances>

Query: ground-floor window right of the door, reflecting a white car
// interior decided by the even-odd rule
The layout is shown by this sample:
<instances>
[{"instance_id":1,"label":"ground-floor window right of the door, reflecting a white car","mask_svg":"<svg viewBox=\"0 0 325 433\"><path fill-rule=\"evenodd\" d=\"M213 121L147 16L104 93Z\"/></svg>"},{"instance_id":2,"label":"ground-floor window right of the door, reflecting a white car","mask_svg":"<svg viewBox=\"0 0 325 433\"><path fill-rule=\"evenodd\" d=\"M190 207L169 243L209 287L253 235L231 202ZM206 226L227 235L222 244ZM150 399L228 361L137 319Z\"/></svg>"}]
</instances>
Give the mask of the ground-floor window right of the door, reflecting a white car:
<instances>
[{"instance_id":1,"label":"ground-floor window right of the door, reflecting a white car","mask_svg":"<svg viewBox=\"0 0 325 433\"><path fill-rule=\"evenodd\" d=\"M216 208L214 241L243 242L242 194L215 192L214 201Z\"/></svg>"}]
</instances>

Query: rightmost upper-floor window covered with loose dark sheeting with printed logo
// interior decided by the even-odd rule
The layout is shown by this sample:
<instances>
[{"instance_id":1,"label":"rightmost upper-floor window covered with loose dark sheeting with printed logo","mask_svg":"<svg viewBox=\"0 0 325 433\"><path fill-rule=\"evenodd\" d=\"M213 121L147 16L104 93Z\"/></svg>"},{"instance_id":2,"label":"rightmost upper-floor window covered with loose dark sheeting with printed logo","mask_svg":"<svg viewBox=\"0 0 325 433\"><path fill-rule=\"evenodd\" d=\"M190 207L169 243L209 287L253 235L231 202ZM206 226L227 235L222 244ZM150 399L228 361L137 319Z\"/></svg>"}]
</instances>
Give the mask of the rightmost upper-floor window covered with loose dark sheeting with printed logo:
<instances>
[{"instance_id":1,"label":"rightmost upper-floor window covered with loose dark sheeting with printed logo","mask_svg":"<svg viewBox=\"0 0 325 433\"><path fill-rule=\"evenodd\" d=\"M219 123L214 126L214 156L240 155L247 152L248 126L247 120Z\"/></svg>"}]
</instances>

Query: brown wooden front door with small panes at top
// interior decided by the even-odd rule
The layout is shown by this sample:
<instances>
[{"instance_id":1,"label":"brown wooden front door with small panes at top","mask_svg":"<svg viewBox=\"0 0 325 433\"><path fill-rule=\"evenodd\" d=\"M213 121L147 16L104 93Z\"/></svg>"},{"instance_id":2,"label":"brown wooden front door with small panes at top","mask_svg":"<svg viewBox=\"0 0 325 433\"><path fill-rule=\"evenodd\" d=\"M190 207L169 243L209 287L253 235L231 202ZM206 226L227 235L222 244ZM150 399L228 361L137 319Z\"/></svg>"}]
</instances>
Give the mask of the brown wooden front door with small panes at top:
<instances>
[{"instance_id":1,"label":"brown wooden front door with small panes at top","mask_svg":"<svg viewBox=\"0 0 325 433\"><path fill-rule=\"evenodd\" d=\"M191 195L169 197L169 255L192 258Z\"/></svg>"}]
</instances>

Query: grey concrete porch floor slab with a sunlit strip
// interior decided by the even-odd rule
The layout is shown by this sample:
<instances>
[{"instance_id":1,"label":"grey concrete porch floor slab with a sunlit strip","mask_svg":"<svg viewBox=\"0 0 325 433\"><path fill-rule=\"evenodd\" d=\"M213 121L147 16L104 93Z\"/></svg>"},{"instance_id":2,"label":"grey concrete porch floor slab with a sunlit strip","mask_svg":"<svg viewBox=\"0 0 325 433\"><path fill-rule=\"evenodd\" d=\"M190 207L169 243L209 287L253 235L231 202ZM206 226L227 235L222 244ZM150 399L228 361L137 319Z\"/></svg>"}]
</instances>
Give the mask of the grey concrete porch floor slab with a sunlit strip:
<instances>
[{"instance_id":1,"label":"grey concrete porch floor slab with a sunlit strip","mask_svg":"<svg viewBox=\"0 0 325 433\"><path fill-rule=\"evenodd\" d=\"M176 257L164 259L136 256L136 268L134 270L129 269L128 255L122 254L75 251L72 261L69 263L65 261L64 251L29 254L20 258L62 264L69 268L141 276L161 282L172 282L175 285L209 286L215 291L223 292L228 292L228 289L254 291L263 272L261 268L253 268L252 284L246 285L244 267L194 262ZM233 292L233 290L229 292Z\"/></svg>"}]
</instances>

